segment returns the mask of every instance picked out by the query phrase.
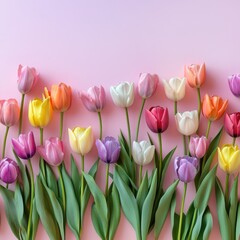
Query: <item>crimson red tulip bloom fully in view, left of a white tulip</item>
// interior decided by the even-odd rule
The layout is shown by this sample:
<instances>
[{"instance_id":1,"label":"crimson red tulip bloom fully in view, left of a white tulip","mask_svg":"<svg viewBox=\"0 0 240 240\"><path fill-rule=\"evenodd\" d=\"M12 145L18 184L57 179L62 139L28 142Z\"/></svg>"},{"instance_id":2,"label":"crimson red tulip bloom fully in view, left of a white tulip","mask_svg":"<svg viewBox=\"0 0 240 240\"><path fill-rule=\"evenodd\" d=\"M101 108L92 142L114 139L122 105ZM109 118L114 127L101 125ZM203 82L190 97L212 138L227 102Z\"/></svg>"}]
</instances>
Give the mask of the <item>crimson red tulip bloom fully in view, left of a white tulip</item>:
<instances>
[{"instance_id":1,"label":"crimson red tulip bloom fully in view, left of a white tulip","mask_svg":"<svg viewBox=\"0 0 240 240\"><path fill-rule=\"evenodd\" d=\"M160 106L145 110L145 119L149 129L154 133L162 133L168 128L168 109Z\"/></svg>"}]
</instances>

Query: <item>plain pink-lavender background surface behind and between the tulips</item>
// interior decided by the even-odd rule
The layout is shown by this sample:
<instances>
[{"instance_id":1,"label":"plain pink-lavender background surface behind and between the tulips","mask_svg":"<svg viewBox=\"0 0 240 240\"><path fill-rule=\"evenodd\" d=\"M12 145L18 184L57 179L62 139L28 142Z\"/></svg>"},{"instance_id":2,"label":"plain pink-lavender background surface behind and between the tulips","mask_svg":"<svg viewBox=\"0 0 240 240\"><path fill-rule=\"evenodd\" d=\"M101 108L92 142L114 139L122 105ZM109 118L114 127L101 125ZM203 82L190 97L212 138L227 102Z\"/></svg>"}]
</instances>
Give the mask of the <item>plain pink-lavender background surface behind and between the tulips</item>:
<instances>
[{"instance_id":1,"label":"plain pink-lavender background surface behind and between the tulips","mask_svg":"<svg viewBox=\"0 0 240 240\"><path fill-rule=\"evenodd\" d=\"M220 95L229 99L228 112L238 111L239 99L232 96L227 77L238 73L240 67L239 1L1 1L0 2L0 98L17 98L18 64L34 66L41 76L34 91L26 97L26 103L40 97L44 86L65 82L74 89L72 108L65 115L64 138L66 162L69 162L67 128L91 124L95 137L98 136L97 115L84 109L77 98L77 91L87 90L102 84L108 94L103 115L103 135L117 137L122 129L126 134L126 122L122 109L115 107L109 96L109 87L121 81L137 84L140 72L157 73L161 79L183 76L185 64L206 63L207 81L202 94ZM169 107L171 122L163 134L166 154L178 145L176 154L182 154L181 136L173 120L173 104L166 99L160 83L157 93L147 101L146 106ZM135 136L140 97L137 96L130 108L132 135ZM179 110L197 108L196 91L187 86L186 97L180 102ZM27 113L27 105L25 105ZM45 137L58 135L59 116L45 130ZM222 119L213 124L210 135L214 136L222 124ZM23 129L32 129L24 116ZM202 118L201 133L206 130L206 120ZM0 148L2 147L4 126L0 126ZM35 136L38 141L38 131ZM140 139L146 139L146 123L141 122ZM10 129L7 154L11 153L10 137L17 134L17 126ZM151 133L155 141L156 136ZM231 139L224 133L223 142ZM176 155L175 154L175 155ZM96 159L94 147L87 156L89 168ZM77 156L76 156L77 159ZM38 172L37 157L34 160ZM104 164L100 164L98 183L104 186ZM223 179L223 173L218 171ZM176 177L171 163L165 187ZM182 184L178 187L181 197ZM194 186L189 185L186 208L194 196ZM177 203L180 205L179 201ZM3 202L0 200L1 239L14 239L8 227ZM83 239L99 239L90 217L90 206L85 215ZM179 208L179 206L178 206ZM214 228L211 239L220 239L215 209L214 194L211 198ZM161 239L171 239L170 221L166 221ZM48 239L42 226L37 239ZM67 239L74 239L67 230ZM116 239L135 239L130 224L121 217ZM149 239L153 239L150 234Z\"/></svg>"}]
</instances>

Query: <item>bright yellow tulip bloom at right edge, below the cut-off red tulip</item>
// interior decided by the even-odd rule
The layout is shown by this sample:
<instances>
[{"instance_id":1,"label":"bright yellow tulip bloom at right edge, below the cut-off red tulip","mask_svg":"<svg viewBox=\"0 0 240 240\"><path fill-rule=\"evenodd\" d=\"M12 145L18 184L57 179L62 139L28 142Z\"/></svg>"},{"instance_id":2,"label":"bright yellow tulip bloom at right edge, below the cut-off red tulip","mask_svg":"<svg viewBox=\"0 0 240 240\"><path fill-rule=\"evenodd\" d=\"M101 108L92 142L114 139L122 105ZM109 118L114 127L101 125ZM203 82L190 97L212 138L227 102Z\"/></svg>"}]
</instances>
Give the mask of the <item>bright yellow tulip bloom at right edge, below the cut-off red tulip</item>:
<instances>
[{"instance_id":1,"label":"bright yellow tulip bloom at right edge, below the cut-off red tulip","mask_svg":"<svg viewBox=\"0 0 240 240\"><path fill-rule=\"evenodd\" d=\"M224 145L218 148L218 163L221 169L227 173L234 173L240 167L240 150L238 146Z\"/></svg>"}]
</instances>

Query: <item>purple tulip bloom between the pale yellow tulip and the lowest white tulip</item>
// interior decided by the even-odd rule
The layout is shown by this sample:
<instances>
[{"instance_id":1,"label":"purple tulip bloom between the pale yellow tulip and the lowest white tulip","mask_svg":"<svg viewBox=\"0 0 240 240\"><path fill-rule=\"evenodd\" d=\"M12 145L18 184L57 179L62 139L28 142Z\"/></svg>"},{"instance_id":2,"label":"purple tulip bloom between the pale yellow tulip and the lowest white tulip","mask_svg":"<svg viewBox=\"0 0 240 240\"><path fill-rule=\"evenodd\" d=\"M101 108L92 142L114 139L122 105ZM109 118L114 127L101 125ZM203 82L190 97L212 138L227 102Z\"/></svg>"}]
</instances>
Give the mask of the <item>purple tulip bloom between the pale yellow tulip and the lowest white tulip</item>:
<instances>
[{"instance_id":1,"label":"purple tulip bloom between the pale yellow tulip and the lowest white tulip","mask_svg":"<svg viewBox=\"0 0 240 240\"><path fill-rule=\"evenodd\" d=\"M113 137L105 137L102 141L97 139L96 146L99 158L105 163L117 162L121 147L119 142Z\"/></svg>"}]
</instances>

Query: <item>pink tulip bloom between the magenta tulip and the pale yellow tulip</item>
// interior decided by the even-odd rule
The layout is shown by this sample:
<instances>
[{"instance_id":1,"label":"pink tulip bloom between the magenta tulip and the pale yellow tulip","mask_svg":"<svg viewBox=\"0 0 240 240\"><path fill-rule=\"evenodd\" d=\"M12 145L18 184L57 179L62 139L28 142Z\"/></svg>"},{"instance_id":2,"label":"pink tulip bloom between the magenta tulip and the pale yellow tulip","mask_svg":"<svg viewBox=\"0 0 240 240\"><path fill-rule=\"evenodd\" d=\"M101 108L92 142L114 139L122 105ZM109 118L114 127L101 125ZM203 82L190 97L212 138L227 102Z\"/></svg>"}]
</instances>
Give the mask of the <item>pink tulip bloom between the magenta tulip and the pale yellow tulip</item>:
<instances>
[{"instance_id":1,"label":"pink tulip bloom between the magenta tulip and the pale yellow tulip","mask_svg":"<svg viewBox=\"0 0 240 240\"><path fill-rule=\"evenodd\" d=\"M63 161L63 142L57 137L46 140L45 145L38 146L37 150L41 157L51 166L59 166Z\"/></svg>"}]
</instances>

